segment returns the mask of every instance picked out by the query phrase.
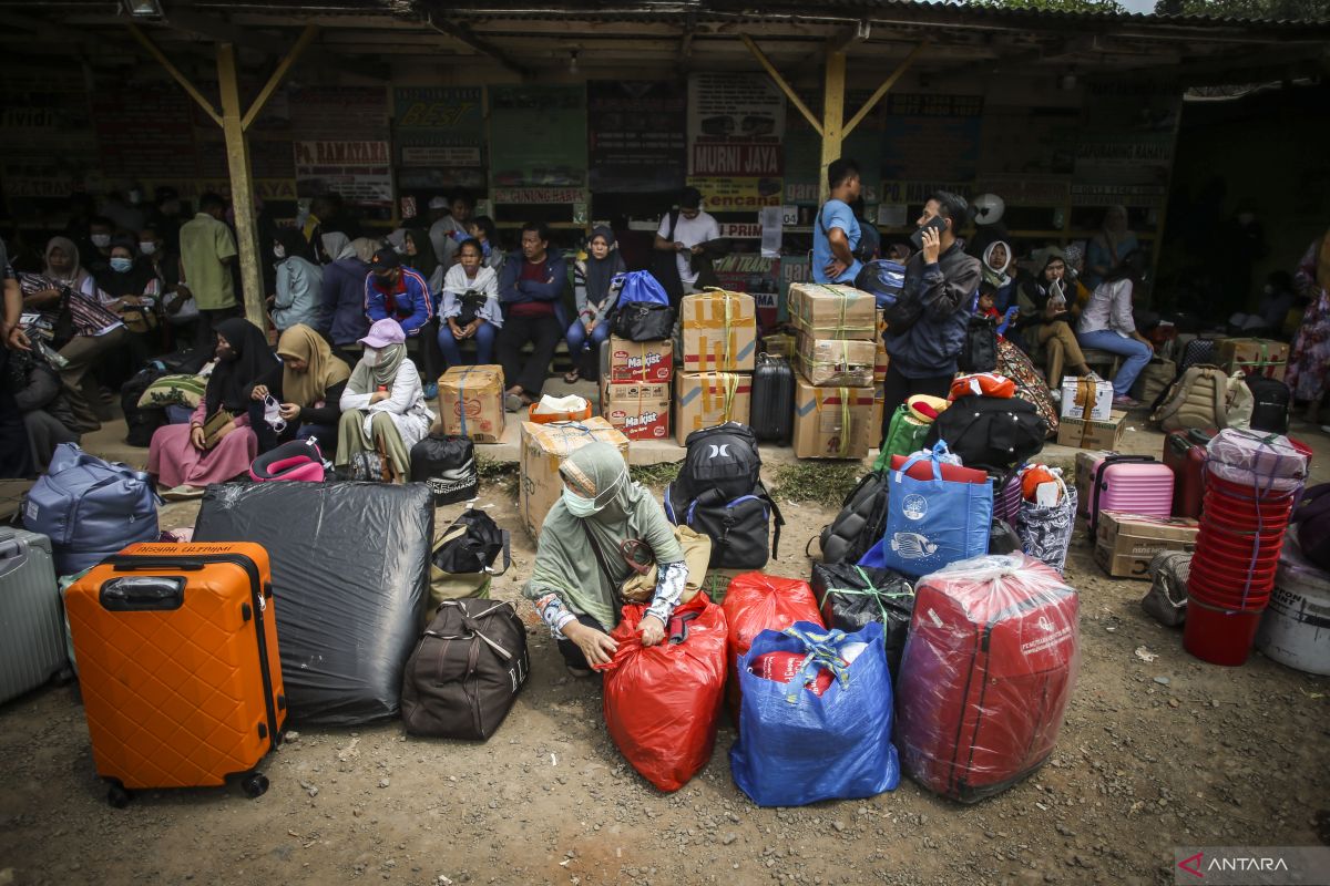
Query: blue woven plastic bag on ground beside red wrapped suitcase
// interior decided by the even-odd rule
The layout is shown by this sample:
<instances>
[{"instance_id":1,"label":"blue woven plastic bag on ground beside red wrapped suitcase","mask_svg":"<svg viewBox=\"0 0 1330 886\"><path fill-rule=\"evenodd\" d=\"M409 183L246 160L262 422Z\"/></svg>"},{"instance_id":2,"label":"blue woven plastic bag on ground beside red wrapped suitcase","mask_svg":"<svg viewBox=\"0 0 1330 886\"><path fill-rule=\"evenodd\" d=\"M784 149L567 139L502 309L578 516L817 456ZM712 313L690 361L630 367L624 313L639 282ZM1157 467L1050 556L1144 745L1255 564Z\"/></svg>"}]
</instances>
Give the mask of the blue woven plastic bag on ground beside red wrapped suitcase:
<instances>
[{"instance_id":1,"label":"blue woven plastic bag on ground beside red wrapped suitcase","mask_svg":"<svg viewBox=\"0 0 1330 886\"><path fill-rule=\"evenodd\" d=\"M841 651L850 643L864 646L847 665ZM794 652L806 660L793 680L778 683L749 671L767 652ZM815 680L822 667L835 680L818 696L805 683ZM811 622L762 631L739 656L738 677L743 701L730 772L758 806L872 797L900 784L882 624L872 622L849 635Z\"/></svg>"}]
</instances>

